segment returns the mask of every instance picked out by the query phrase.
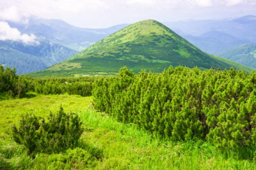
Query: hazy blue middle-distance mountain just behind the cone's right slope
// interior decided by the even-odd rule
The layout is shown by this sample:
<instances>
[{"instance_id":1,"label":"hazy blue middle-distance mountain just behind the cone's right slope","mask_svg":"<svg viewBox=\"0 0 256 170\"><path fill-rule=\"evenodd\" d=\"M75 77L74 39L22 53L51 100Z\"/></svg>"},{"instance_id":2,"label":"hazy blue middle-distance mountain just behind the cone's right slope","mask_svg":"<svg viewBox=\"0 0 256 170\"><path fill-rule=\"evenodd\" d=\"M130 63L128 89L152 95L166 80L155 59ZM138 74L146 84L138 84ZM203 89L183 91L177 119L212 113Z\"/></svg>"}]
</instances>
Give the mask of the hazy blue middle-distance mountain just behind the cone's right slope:
<instances>
[{"instance_id":1,"label":"hazy blue middle-distance mountain just behind the cone's right slope","mask_svg":"<svg viewBox=\"0 0 256 170\"><path fill-rule=\"evenodd\" d=\"M220 31L205 32L200 36L184 35L183 38L187 39L193 45L207 53L216 55L237 45L250 43L249 40L239 39L235 36Z\"/></svg>"}]
</instances>

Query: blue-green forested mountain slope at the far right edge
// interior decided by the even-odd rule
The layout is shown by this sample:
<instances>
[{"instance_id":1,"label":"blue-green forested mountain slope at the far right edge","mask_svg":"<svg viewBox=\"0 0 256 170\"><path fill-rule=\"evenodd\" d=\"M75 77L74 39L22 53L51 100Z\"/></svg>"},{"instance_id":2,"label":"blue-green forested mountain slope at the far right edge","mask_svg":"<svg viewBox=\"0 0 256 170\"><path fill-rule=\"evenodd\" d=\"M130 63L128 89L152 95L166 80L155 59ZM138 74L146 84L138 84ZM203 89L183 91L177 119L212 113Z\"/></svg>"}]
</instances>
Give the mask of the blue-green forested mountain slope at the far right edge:
<instances>
[{"instance_id":1,"label":"blue-green forested mountain slope at the far right edge","mask_svg":"<svg viewBox=\"0 0 256 170\"><path fill-rule=\"evenodd\" d=\"M239 45L218 53L218 56L256 68L256 44Z\"/></svg>"}]
</instances>

